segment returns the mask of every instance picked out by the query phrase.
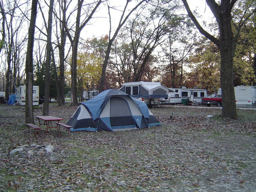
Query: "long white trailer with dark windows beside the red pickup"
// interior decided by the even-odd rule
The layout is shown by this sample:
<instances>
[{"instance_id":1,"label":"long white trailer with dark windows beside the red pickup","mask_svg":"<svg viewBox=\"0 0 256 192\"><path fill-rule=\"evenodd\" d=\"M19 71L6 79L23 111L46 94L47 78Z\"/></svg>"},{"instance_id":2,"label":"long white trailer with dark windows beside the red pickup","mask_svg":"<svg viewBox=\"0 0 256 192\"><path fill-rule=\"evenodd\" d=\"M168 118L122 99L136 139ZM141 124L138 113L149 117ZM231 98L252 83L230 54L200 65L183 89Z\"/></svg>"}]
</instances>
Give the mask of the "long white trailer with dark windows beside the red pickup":
<instances>
[{"instance_id":1,"label":"long white trailer with dark windows beside the red pickup","mask_svg":"<svg viewBox=\"0 0 256 192\"><path fill-rule=\"evenodd\" d=\"M168 103L183 103L183 104L201 104L202 98L207 97L206 89L187 89L186 87L170 88L168 98L162 98L161 101Z\"/></svg>"}]
</instances>

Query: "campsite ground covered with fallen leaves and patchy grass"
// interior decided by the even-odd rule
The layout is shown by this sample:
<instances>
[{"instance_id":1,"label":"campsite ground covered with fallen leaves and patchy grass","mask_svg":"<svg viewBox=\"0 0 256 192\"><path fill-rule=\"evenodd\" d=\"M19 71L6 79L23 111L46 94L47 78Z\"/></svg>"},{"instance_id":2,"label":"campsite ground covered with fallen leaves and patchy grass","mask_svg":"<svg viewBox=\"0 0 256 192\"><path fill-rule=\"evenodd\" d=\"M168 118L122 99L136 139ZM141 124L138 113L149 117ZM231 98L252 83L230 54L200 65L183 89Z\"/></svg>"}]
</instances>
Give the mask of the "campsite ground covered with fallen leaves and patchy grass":
<instances>
[{"instance_id":1,"label":"campsite ground covered with fallen leaves and patchy grass","mask_svg":"<svg viewBox=\"0 0 256 192\"><path fill-rule=\"evenodd\" d=\"M65 123L75 110L54 104L49 115ZM256 191L255 110L237 109L236 120L222 119L220 107L150 110L161 126L70 137L43 137L42 126L34 138L24 111L1 104L0 191ZM10 155L17 146L23 152Z\"/></svg>"}]
</instances>

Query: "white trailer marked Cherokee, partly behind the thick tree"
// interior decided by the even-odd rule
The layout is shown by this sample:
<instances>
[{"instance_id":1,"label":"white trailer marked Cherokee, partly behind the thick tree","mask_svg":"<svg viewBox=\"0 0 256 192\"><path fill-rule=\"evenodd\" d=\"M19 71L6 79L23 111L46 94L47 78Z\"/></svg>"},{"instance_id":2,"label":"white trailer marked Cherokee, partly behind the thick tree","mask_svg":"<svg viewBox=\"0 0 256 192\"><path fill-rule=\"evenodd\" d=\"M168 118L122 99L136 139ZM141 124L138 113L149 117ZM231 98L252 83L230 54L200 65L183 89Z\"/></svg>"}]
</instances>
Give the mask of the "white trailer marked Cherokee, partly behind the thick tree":
<instances>
[{"instance_id":1,"label":"white trailer marked Cherokee, partly behind the thick tree","mask_svg":"<svg viewBox=\"0 0 256 192\"><path fill-rule=\"evenodd\" d=\"M256 108L256 86L239 85L234 87L236 107ZM221 94L221 88L218 89Z\"/></svg>"}]
</instances>

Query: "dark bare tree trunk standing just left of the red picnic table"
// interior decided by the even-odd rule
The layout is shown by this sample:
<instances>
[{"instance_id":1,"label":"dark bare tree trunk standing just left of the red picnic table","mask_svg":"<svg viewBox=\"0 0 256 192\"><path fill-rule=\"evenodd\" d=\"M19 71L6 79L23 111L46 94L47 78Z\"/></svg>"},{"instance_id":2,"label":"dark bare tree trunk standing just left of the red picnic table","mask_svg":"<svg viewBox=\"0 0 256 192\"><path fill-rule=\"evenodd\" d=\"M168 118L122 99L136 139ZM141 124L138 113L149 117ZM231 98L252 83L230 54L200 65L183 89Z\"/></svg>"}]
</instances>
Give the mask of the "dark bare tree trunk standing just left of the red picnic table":
<instances>
[{"instance_id":1,"label":"dark bare tree trunk standing just left of the red picnic table","mask_svg":"<svg viewBox=\"0 0 256 192\"><path fill-rule=\"evenodd\" d=\"M33 116L33 46L34 46L34 36L35 36L35 26L36 26L36 10L37 10L37 0L32 0L31 7L31 18L30 26L28 31L28 46L26 55L26 113L25 122L34 123Z\"/></svg>"}]
</instances>

